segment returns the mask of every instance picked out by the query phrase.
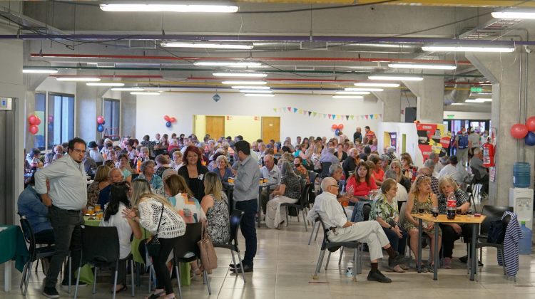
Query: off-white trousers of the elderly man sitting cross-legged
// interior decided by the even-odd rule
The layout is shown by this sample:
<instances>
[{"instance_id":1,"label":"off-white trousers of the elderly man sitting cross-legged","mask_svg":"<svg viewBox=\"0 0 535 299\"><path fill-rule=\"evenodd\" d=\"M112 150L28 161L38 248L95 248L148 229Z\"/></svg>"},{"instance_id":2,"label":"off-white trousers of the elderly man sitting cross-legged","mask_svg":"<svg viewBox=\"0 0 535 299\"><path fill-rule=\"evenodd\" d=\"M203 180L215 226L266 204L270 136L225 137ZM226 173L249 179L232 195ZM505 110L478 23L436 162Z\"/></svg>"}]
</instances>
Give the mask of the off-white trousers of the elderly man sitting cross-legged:
<instances>
[{"instance_id":1,"label":"off-white trousers of the elderly man sitting cross-legged","mask_svg":"<svg viewBox=\"0 0 535 299\"><path fill-rule=\"evenodd\" d=\"M329 231L328 236L332 242L359 241L367 243L371 261L382 258L382 248L390 243L377 221L361 221L352 226L337 227L336 233Z\"/></svg>"}]
</instances>

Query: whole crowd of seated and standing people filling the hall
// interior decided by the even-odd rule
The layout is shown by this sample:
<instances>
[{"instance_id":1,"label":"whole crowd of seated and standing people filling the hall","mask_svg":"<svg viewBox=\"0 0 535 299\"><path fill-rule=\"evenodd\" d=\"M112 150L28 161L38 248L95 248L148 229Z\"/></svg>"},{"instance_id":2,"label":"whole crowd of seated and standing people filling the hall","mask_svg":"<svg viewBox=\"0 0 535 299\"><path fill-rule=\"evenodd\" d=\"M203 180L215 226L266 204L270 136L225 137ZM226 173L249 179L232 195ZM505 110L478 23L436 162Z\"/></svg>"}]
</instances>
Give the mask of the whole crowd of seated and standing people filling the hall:
<instances>
[{"instance_id":1,"label":"whole crowd of seated and standing people filling the hall","mask_svg":"<svg viewBox=\"0 0 535 299\"><path fill-rule=\"evenodd\" d=\"M146 135L141 142L123 138L115 143L118 145L107 139L87 145L74 138L54 147L46 162L41 161L37 149L26 157L26 167L33 172L19 198L19 214L29 218L38 242L56 244L44 283L43 294L48 298L58 298L58 273L69 250L72 267L78 267L82 215L96 206L104 211L101 226L118 229L122 269L117 291L127 288L123 265L130 254L131 235L141 238L143 229L158 234L161 251L152 256L158 286L150 298L174 296L166 262L174 239L185 233L185 224L200 222L213 242L226 243L232 209L244 211L240 228L245 256L243 269L231 266L231 271L253 271L258 243L255 217L263 216L268 228L280 229L287 213L282 204L296 203L305 184L312 184L313 192L319 194L309 218L320 216L330 227L332 241L367 243L372 262L368 279L382 283L390 282L377 268L382 249L397 272L408 268L403 258L407 243L417 256L417 220L411 214L434 208L445 214L446 199L451 196L460 209L469 209L462 190L467 171L456 156L432 153L418 169L408 153L398 158L392 147L378 152L377 137L370 127L365 127L365 132L357 127L353 140L346 135L330 140L310 136L297 137L295 143L287 137L282 142L256 140L250 144L240 135L218 139L206 135L198 140L195 135L156 134L156 140ZM471 147L469 151L473 169L488 179L481 149ZM314 172L317 175L311 175ZM91 184L86 174L93 178ZM269 186L258 199L260 179ZM377 195L372 198L370 194ZM349 206L344 208L344 203ZM258 215L258 204L264 215ZM363 204L371 206L366 221L361 215ZM425 224L431 246L433 229L432 223ZM469 231L457 224L440 225L444 268L452 267L453 243L459 236L467 240ZM197 263L191 263L191 268L193 276L202 271ZM66 277L61 284L72 280Z\"/></svg>"}]
</instances>

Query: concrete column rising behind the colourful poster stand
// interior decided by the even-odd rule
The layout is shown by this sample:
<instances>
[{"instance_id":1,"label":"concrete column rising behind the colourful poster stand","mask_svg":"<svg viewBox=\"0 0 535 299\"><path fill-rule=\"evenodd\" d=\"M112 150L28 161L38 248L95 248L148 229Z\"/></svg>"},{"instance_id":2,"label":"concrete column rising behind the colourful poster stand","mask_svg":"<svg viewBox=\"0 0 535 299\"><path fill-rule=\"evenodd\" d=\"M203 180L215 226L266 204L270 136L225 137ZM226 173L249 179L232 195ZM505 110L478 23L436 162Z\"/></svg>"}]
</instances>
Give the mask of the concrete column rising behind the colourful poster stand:
<instances>
[{"instance_id":1,"label":"concrete column rising behind the colourful poster stand","mask_svg":"<svg viewBox=\"0 0 535 299\"><path fill-rule=\"evenodd\" d=\"M416 119L442 123L444 120L444 78L424 76L422 81L403 81L416 95Z\"/></svg>"}]
</instances>

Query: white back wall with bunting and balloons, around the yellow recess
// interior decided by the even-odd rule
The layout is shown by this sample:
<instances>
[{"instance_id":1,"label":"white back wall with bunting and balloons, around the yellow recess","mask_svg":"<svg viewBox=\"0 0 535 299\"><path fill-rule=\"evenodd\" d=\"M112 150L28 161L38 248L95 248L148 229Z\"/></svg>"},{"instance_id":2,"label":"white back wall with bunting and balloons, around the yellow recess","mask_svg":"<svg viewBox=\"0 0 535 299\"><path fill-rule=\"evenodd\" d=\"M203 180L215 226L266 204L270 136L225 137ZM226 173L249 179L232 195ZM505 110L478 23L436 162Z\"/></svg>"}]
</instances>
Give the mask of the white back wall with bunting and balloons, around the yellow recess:
<instances>
[{"instance_id":1,"label":"white back wall with bunting and balloons, around the yellow recess","mask_svg":"<svg viewBox=\"0 0 535 299\"><path fill-rule=\"evenodd\" d=\"M193 132L193 115L257 115L279 116L280 137L327 136L334 137L333 124L344 124L343 132L352 137L355 127L369 125L377 130L377 120L327 120L323 117L309 117L297 113L275 112L274 108L296 107L302 110L326 114L370 115L382 114L382 103L374 97L370 100L333 99L320 95L276 95L274 98L249 98L238 94L221 93L221 100L215 103L213 93L163 93L158 96L138 95L136 114L136 136L154 136L156 132L185 133ZM173 127L165 127L164 115L176 117ZM357 120L358 118L358 120Z\"/></svg>"}]
</instances>

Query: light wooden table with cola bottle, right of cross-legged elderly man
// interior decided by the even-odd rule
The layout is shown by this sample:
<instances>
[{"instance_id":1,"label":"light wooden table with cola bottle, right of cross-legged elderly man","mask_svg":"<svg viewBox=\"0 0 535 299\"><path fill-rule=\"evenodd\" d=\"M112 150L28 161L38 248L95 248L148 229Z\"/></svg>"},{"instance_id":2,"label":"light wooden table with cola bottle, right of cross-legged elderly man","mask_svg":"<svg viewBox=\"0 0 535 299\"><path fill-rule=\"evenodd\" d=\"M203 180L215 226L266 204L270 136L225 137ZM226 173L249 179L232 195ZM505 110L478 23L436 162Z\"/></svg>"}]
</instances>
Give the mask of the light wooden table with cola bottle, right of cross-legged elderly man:
<instances>
[{"instance_id":1,"label":"light wooden table with cola bottle, right of cross-legged elderly man","mask_svg":"<svg viewBox=\"0 0 535 299\"><path fill-rule=\"evenodd\" d=\"M479 224L484 221L486 216L472 216L455 215L455 219L449 220L446 215L440 214L437 219L431 214L411 214L412 217L418 219L418 239L422 239L422 221L433 222L434 225L434 271L433 280L438 280L438 265L439 265L439 225L438 224L471 224L472 225L472 241L470 243L470 250L468 251L468 258L470 261L470 280L474 280L477 271L477 253L476 244L477 236L479 235ZM418 241L418 273L422 272L422 242Z\"/></svg>"}]
</instances>

